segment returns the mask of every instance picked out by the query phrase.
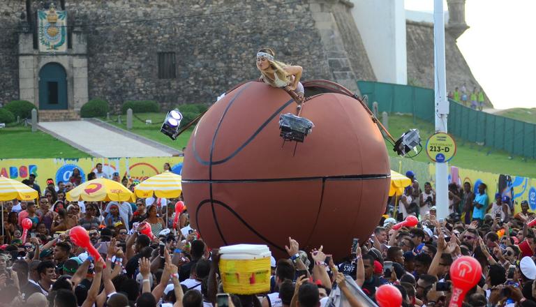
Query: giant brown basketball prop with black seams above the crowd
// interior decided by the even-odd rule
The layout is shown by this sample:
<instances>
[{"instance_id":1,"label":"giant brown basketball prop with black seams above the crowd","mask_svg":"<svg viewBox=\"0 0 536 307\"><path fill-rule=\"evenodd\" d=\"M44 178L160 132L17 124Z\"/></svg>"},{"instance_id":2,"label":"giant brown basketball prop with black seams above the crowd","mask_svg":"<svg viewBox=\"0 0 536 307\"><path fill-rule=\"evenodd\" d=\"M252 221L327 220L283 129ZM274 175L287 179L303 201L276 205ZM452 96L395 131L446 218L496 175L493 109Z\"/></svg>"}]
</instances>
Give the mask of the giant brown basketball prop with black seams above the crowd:
<instances>
[{"instance_id":1,"label":"giant brown basketball prop with black seams above the crowd","mask_svg":"<svg viewBox=\"0 0 536 307\"><path fill-rule=\"evenodd\" d=\"M290 236L300 249L323 245L340 259L385 212L385 143L358 100L321 93L304 105L300 116L315 127L293 155L295 143L279 136L288 112L296 112L288 93L248 82L204 114L182 169L192 227L213 248L267 244L283 257Z\"/></svg>"}]
</instances>

